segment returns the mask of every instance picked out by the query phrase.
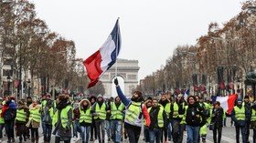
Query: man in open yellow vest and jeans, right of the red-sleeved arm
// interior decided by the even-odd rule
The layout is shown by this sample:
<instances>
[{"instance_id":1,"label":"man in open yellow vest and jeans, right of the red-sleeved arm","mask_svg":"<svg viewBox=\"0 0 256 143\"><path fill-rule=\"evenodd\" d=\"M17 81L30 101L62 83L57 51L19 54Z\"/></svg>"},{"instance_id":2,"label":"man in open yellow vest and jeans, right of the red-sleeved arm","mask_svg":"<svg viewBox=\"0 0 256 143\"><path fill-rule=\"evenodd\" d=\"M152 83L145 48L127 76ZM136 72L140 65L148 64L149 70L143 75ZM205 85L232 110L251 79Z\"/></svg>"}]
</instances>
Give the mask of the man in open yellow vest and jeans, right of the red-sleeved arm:
<instances>
[{"instance_id":1,"label":"man in open yellow vest and jeans, right of the red-sleeved arm","mask_svg":"<svg viewBox=\"0 0 256 143\"><path fill-rule=\"evenodd\" d=\"M150 143L160 143L163 129L168 125L165 109L158 105L156 99L153 99L148 113L151 121L149 125Z\"/></svg>"}]
</instances>

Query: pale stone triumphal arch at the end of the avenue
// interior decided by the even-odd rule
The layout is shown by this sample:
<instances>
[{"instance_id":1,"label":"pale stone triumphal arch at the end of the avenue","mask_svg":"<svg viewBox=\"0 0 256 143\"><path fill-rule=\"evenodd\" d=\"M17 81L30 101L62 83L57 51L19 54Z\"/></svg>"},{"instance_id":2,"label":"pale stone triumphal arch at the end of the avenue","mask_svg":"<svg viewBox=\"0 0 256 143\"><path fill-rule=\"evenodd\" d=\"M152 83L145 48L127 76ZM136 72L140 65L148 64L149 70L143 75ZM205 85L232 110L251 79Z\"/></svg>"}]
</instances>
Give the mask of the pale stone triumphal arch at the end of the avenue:
<instances>
[{"instance_id":1,"label":"pale stone triumphal arch at the end of the avenue","mask_svg":"<svg viewBox=\"0 0 256 143\"><path fill-rule=\"evenodd\" d=\"M101 82L105 88L106 97L112 97L112 80L115 77L115 66L117 66L117 77L123 77L125 96L131 96L133 88L138 85L138 60L117 59L117 62L101 76Z\"/></svg>"}]
</instances>

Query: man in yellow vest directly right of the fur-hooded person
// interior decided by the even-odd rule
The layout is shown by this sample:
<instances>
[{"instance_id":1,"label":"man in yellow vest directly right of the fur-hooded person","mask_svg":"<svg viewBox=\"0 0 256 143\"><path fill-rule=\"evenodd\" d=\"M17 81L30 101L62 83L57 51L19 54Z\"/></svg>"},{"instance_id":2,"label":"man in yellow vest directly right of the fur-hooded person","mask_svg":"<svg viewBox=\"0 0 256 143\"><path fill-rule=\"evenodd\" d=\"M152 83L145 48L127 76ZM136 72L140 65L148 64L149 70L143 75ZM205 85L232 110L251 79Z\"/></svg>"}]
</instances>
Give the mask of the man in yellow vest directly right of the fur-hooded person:
<instances>
[{"instance_id":1,"label":"man in yellow vest directly right of the fur-hooded person","mask_svg":"<svg viewBox=\"0 0 256 143\"><path fill-rule=\"evenodd\" d=\"M95 120L97 137L99 143L104 143L105 138L105 119L107 117L107 105L104 103L104 99L101 95L97 97L97 102L95 102L91 107L92 116Z\"/></svg>"}]
</instances>

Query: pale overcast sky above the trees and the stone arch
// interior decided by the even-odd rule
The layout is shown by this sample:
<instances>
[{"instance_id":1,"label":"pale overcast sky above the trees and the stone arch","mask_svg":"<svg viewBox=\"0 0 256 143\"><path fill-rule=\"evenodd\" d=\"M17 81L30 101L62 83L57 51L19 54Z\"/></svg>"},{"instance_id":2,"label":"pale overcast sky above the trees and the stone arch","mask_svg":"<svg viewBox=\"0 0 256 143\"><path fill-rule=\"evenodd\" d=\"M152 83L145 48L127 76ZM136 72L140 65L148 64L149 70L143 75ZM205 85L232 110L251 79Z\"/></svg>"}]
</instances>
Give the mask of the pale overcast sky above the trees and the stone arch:
<instances>
[{"instance_id":1,"label":"pale overcast sky above the trees and the stone arch","mask_svg":"<svg viewBox=\"0 0 256 143\"><path fill-rule=\"evenodd\" d=\"M208 24L239 14L244 0L30 0L51 31L73 40L77 57L91 56L120 17L119 58L139 60L139 79L165 66L178 45L195 45Z\"/></svg>"}]
</instances>

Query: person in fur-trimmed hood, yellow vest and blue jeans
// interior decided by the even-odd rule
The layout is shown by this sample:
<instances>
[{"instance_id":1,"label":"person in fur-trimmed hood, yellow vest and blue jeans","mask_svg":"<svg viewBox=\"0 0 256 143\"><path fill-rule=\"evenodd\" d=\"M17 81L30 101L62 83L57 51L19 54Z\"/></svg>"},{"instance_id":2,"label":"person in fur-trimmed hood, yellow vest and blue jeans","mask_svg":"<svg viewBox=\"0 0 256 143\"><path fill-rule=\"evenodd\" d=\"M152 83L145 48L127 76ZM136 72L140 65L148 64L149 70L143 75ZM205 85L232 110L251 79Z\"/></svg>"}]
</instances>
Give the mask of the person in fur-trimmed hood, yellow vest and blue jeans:
<instances>
[{"instance_id":1,"label":"person in fur-trimmed hood, yellow vest and blue jeans","mask_svg":"<svg viewBox=\"0 0 256 143\"><path fill-rule=\"evenodd\" d=\"M81 129L81 139L82 143L88 143L91 133L91 102L88 99L83 99L80 101L80 129Z\"/></svg>"}]
</instances>

